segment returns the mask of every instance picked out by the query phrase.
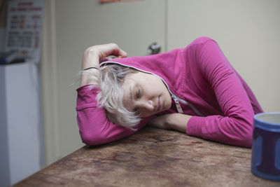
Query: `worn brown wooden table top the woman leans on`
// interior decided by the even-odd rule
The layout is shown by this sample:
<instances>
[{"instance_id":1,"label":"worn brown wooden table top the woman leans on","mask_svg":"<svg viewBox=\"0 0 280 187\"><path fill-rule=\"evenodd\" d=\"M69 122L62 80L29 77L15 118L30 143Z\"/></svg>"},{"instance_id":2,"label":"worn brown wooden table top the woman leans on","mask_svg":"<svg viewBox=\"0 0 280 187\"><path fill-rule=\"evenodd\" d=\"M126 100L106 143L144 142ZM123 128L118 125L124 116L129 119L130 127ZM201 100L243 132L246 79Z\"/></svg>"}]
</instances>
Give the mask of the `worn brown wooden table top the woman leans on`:
<instances>
[{"instance_id":1,"label":"worn brown wooden table top the woman leans on","mask_svg":"<svg viewBox=\"0 0 280 187\"><path fill-rule=\"evenodd\" d=\"M280 186L251 173L251 148L144 127L84 146L15 186Z\"/></svg>"}]
</instances>

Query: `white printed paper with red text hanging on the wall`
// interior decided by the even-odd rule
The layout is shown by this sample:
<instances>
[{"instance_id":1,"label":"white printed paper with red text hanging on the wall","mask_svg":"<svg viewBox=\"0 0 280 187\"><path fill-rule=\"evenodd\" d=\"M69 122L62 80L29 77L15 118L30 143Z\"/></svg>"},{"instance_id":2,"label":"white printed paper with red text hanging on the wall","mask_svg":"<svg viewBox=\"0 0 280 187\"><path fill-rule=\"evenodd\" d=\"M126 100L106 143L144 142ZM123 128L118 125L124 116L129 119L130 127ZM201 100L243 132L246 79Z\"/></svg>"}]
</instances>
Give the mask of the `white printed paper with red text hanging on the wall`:
<instances>
[{"instance_id":1,"label":"white printed paper with red text hanging on the wall","mask_svg":"<svg viewBox=\"0 0 280 187\"><path fill-rule=\"evenodd\" d=\"M5 50L18 50L28 62L40 62L43 0L8 2Z\"/></svg>"}]
</instances>

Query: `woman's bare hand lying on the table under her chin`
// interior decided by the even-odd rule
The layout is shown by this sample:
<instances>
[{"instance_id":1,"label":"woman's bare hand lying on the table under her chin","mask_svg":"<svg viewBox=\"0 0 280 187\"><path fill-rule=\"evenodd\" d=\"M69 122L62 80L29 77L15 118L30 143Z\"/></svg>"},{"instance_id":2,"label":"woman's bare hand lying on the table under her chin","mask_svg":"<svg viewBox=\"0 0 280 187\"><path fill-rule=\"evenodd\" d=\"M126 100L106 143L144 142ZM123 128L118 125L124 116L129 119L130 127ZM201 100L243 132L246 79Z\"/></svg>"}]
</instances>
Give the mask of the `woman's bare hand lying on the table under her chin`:
<instances>
[{"instance_id":1,"label":"woman's bare hand lying on the table under her chin","mask_svg":"<svg viewBox=\"0 0 280 187\"><path fill-rule=\"evenodd\" d=\"M153 118L148 125L159 129L173 129L186 133L188 120L191 117L183 113L167 113Z\"/></svg>"}]
</instances>

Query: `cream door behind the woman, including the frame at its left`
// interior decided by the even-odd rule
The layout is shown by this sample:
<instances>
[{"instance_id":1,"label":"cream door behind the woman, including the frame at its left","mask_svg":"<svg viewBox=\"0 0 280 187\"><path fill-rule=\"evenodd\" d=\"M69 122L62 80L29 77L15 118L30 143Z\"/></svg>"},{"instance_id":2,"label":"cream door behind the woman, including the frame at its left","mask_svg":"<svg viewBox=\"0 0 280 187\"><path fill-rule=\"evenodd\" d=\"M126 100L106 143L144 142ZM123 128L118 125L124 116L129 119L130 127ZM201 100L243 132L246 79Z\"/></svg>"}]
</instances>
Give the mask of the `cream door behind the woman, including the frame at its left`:
<instances>
[{"instance_id":1,"label":"cream door behind the woman, including the frame at its left","mask_svg":"<svg viewBox=\"0 0 280 187\"><path fill-rule=\"evenodd\" d=\"M46 164L83 146L76 124L76 88L85 48L117 43L129 56L147 55L158 42L165 51L166 1L45 1L43 99ZM76 77L77 78L77 77Z\"/></svg>"}]
</instances>

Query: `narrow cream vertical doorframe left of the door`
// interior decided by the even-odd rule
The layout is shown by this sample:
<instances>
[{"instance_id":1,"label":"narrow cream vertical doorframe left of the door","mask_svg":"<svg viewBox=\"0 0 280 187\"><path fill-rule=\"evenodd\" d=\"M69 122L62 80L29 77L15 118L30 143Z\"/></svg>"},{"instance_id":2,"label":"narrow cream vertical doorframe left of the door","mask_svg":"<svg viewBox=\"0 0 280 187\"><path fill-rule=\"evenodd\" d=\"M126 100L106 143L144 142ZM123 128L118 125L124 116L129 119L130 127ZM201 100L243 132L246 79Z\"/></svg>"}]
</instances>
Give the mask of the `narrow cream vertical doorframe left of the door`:
<instances>
[{"instance_id":1,"label":"narrow cream vertical doorframe left of the door","mask_svg":"<svg viewBox=\"0 0 280 187\"><path fill-rule=\"evenodd\" d=\"M55 162L59 154L59 111L57 85L55 0L44 1L41 59L42 110L45 140L45 165Z\"/></svg>"}]
</instances>

